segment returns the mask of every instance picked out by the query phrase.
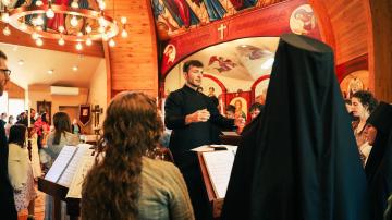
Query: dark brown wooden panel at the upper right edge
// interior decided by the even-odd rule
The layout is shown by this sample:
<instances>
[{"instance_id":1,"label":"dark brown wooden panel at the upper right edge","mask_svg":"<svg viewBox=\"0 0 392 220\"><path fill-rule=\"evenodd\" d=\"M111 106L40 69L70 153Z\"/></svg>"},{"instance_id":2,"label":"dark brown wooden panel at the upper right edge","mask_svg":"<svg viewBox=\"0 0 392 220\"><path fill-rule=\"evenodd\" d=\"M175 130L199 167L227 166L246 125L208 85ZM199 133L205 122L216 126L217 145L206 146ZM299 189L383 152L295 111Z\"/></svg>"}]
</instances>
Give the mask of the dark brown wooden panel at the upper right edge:
<instances>
[{"instance_id":1,"label":"dark brown wooden panel at the upper right edge","mask_svg":"<svg viewBox=\"0 0 392 220\"><path fill-rule=\"evenodd\" d=\"M375 95L378 99L392 102L392 1L370 1L373 61Z\"/></svg>"}]
</instances>

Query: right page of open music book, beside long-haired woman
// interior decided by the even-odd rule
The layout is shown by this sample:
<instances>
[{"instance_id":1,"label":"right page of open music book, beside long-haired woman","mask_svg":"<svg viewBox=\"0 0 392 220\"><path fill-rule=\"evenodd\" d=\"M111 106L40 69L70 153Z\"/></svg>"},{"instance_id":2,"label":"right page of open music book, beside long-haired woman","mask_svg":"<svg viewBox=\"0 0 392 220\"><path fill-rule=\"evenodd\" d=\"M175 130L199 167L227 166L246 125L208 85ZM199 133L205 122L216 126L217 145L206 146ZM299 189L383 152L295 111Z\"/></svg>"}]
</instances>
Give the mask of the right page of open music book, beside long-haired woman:
<instances>
[{"instance_id":1,"label":"right page of open music book, beside long-haired woman","mask_svg":"<svg viewBox=\"0 0 392 220\"><path fill-rule=\"evenodd\" d=\"M88 149L83 156L81 163L77 166L77 171L72 180L66 197L82 198L83 181L95 161L95 156L93 152L94 149Z\"/></svg>"}]
</instances>

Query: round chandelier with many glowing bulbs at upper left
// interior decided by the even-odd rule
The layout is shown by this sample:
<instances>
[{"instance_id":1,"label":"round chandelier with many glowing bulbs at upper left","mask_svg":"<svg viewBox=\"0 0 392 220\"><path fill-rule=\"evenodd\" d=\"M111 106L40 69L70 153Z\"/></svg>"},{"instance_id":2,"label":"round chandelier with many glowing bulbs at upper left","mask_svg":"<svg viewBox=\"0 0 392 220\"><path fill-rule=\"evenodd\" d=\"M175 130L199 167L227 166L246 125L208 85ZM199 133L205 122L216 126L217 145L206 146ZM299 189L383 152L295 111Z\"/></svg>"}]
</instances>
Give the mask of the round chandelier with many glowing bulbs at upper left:
<instances>
[{"instance_id":1,"label":"round chandelier with many glowing bulbs at upper left","mask_svg":"<svg viewBox=\"0 0 392 220\"><path fill-rule=\"evenodd\" d=\"M82 50L83 44L91 46L95 40L109 41L114 47L113 37L120 30L123 38L127 37L126 17L121 17L119 27L115 20L106 15L105 0L32 0L29 4L29 0L11 1L1 0L3 35L11 35L11 25L29 34L37 46L42 46L47 38L61 46L71 41Z\"/></svg>"}]
</instances>

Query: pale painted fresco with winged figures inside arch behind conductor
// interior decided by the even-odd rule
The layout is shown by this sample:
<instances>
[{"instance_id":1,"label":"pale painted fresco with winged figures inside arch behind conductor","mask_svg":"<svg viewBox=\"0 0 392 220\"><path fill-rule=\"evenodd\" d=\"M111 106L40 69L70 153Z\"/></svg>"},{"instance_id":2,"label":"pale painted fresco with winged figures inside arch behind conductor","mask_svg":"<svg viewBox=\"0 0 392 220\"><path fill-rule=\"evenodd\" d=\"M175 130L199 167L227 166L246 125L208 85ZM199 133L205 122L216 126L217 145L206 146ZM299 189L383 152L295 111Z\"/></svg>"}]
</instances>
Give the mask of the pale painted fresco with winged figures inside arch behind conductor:
<instances>
[{"instance_id":1,"label":"pale painted fresco with winged figures inside arch behind conductor","mask_svg":"<svg viewBox=\"0 0 392 220\"><path fill-rule=\"evenodd\" d=\"M205 72L216 77L254 82L271 73L278 42L279 37L237 39L200 50L184 61L201 61Z\"/></svg>"}]
</instances>

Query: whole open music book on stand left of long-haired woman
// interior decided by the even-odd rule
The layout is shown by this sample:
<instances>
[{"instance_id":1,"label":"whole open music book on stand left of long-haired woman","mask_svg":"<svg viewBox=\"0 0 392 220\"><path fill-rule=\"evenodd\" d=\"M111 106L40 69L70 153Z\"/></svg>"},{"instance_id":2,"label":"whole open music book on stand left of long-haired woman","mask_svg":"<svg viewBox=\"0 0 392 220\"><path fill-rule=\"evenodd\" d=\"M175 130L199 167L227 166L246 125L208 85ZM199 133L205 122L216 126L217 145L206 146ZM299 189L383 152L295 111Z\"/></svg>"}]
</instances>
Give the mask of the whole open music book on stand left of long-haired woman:
<instances>
[{"instance_id":1,"label":"whole open music book on stand left of long-haired woman","mask_svg":"<svg viewBox=\"0 0 392 220\"><path fill-rule=\"evenodd\" d=\"M81 183L94 164L94 149L90 148L91 145L88 144L64 146L45 175L45 180L69 187L66 197L78 197L76 192L81 194Z\"/></svg>"}]
</instances>

